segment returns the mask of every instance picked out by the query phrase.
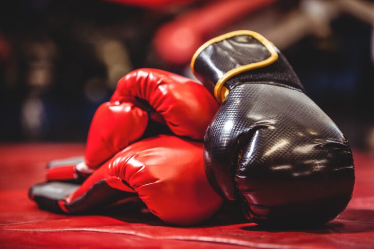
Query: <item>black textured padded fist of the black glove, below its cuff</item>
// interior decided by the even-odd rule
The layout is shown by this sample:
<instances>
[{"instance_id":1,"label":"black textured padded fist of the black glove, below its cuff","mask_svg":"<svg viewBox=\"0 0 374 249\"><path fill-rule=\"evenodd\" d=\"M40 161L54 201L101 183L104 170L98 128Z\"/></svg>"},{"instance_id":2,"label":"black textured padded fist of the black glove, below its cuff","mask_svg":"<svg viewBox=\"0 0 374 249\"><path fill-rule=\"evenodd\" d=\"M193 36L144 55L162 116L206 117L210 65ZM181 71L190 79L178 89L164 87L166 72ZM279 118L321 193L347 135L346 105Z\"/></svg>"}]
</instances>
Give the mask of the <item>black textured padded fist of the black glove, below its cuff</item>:
<instances>
[{"instance_id":1,"label":"black textured padded fist of the black glove, below its cuff","mask_svg":"<svg viewBox=\"0 0 374 249\"><path fill-rule=\"evenodd\" d=\"M230 91L206 132L204 160L216 191L242 198L256 222L323 223L352 197L346 139L293 89L243 84Z\"/></svg>"}]
</instances>

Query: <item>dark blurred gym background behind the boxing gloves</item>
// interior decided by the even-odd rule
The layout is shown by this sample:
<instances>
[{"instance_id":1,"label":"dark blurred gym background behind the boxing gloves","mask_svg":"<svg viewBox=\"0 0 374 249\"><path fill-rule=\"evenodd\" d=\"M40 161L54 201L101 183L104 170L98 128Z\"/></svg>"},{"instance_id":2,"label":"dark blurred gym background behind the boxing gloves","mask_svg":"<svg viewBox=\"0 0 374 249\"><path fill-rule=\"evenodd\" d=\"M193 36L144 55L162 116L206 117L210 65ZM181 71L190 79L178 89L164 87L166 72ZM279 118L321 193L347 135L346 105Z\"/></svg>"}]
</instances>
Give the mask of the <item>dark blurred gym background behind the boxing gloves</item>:
<instances>
[{"instance_id":1,"label":"dark blurred gym background behind the boxing gloves","mask_svg":"<svg viewBox=\"0 0 374 249\"><path fill-rule=\"evenodd\" d=\"M373 25L373 0L1 1L0 142L84 142L126 73L193 77L201 44L250 29L286 55L351 145L374 153Z\"/></svg>"}]
</instances>

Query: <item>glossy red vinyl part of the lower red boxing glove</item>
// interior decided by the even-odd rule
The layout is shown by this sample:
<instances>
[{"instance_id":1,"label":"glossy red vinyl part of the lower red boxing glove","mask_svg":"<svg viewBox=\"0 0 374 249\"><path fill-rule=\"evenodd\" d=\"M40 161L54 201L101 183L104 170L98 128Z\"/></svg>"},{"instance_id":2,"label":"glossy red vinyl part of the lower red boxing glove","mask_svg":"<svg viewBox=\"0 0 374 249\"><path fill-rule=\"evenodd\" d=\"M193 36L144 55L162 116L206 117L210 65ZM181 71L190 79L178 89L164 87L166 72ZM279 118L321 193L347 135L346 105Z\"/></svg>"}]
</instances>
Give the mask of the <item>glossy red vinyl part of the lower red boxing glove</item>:
<instances>
[{"instance_id":1,"label":"glossy red vinyl part of the lower red boxing glove","mask_svg":"<svg viewBox=\"0 0 374 249\"><path fill-rule=\"evenodd\" d=\"M135 142L100 166L66 198L65 205L69 210L75 200L83 201L85 194L105 179L112 188L137 193L150 212L167 223L201 223L216 213L223 201L208 183L202 153L202 142L175 136Z\"/></svg>"}]
</instances>

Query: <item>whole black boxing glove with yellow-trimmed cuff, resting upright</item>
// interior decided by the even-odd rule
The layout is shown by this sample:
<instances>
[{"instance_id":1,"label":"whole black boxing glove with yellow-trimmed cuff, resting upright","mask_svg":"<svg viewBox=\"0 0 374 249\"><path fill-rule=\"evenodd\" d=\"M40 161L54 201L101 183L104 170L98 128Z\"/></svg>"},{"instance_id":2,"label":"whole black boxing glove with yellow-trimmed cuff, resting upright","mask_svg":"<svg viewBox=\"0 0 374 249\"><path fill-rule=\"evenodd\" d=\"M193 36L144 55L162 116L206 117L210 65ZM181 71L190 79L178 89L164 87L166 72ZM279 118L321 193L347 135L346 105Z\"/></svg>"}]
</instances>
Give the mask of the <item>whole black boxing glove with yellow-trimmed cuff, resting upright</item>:
<instances>
[{"instance_id":1,"label":"whole black boxing glove with yellow-trimmed cuff, resting upright","mask_svg":"<svg viewBox=\"0 0 374 249\"><path fill-rule=\"evenodd\" d=\"M271 42L252 31L218 36L197 50L191 69L223 102L204 142L218 194L242 199L260 224L318 225L344 210L355 183L352 151Z\"/></svg>"}]
</instances>

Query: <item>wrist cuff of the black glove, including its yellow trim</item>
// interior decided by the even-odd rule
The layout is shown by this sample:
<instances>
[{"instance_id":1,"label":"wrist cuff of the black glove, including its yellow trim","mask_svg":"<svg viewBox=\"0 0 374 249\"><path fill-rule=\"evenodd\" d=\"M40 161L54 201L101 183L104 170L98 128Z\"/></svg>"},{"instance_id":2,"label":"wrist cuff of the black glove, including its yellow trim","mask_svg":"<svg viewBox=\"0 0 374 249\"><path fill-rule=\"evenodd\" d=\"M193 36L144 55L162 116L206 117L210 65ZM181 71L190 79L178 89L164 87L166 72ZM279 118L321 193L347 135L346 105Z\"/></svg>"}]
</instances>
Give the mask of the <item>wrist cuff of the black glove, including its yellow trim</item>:
<instances>
[{"instance_id":1,"label":"wrist cuff of the black glove, including its yellow trim","mask_svg":"<svg viewBox=\"0 0 374 249\"><path fill-rule=\"evenodd\" d=\"M191 70L218 102L243 83L276 82L273 85L303 91L286 58L253 31L234 31L209 40L192 57Z\"/></svg>"}]
</instances>

